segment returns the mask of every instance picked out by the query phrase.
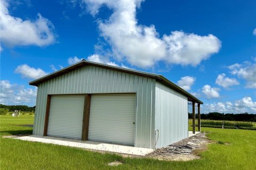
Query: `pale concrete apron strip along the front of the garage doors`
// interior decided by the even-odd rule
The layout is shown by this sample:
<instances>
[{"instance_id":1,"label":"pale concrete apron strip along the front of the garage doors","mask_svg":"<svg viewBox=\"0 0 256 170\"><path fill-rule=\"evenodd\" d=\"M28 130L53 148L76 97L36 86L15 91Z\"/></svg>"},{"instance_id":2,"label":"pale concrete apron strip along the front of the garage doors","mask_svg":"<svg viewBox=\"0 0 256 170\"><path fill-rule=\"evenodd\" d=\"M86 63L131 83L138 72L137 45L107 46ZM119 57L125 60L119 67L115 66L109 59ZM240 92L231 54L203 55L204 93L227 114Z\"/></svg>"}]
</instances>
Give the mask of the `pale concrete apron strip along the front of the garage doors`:
<instances>
[{"instance_id":1,"label":"pale concrete apron strip along the front of the garage doors","mask_svg":"<svg viewBox=\"0 0 256 170\"><path fill-rule=\"evenodd\" d=\"M115 145L110 143L81 141L76 139L42 137L42 136L36 136L36 135L18 137L15 139L33 141L33 142L42 142L42 143L52 143L54 145L62 145L62 146L92 149L92 150L101 150L101 151L108 151L108 152L116 152L120 154L138 155L138 156L145 156L154 151L154 149L148 149L148 148L137 148L137 147L131 147L131 146L125 146L125 145Z\"/></svg>"}]
</instances>

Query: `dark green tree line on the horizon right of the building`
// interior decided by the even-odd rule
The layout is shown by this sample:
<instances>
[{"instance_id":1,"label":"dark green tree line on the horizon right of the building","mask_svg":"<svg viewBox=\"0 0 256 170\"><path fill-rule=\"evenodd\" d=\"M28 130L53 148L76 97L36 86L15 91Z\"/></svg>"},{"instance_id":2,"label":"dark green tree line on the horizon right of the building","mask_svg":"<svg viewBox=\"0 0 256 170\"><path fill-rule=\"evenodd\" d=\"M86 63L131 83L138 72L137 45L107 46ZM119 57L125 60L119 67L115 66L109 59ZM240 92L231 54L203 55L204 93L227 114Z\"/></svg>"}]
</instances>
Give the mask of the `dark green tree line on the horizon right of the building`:
<instances>
[{"instance_id":1,"label":"dark green tree line on the horizon right of the building","mask_svg":"<svg viewBox=\"0 0 256 170\"><path fill-rule=\"evenodd\" d=\"M188 118L192 118L192 113L188 113ZM196 114L197 118L197 114ZM205 120L222 120L222 121L250 121L256 122L256 114L249 113L218 113L218 112L210 112L207 114L201 114L201 119Z\"/></svg>"}]
</instances>

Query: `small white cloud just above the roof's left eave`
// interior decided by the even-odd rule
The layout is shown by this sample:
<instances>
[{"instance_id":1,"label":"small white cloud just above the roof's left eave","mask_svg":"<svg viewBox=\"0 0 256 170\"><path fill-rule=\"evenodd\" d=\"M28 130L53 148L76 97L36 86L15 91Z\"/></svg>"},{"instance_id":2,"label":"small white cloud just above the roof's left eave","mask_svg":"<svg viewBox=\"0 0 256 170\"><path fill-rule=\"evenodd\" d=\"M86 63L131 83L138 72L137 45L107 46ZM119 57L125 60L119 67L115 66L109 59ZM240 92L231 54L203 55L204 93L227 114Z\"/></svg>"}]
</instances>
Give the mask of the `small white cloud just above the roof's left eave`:
<instances>
[{"instance_id":1,"label":"small white cloud just above the roof's left eave","mask_svg":"<svg viewBox=\"0 0 256 170\"><path fill-rule=\"evenodd\" d=\"M48 74L42 69L38 68L35 69L34 67L30 67L27 64L19 65L15 71L15 73L21 74L23 78L30 78L30 79L38 79L43 77L44 75Z\"/></svg>"}]
</instances>

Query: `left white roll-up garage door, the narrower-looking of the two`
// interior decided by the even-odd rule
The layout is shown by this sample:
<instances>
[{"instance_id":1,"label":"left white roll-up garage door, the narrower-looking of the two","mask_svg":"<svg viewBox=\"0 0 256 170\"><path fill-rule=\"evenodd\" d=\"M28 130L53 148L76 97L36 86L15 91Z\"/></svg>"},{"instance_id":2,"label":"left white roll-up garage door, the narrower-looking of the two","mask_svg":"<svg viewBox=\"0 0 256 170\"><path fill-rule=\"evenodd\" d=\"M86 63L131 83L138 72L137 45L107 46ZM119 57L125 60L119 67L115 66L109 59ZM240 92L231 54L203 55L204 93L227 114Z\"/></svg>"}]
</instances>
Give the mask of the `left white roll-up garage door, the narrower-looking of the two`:
<instances>
[{"instance_id":1,"label":"left white roll-up garage door, the narrower-looking of the two","mask_svg":"<svg viewBox=\"0 0 256 170\"><path fill-rule=\"evenodd\" d=\"M52 96L47 135L81 139L84 95Z\"/></svg>"}]
</instances>

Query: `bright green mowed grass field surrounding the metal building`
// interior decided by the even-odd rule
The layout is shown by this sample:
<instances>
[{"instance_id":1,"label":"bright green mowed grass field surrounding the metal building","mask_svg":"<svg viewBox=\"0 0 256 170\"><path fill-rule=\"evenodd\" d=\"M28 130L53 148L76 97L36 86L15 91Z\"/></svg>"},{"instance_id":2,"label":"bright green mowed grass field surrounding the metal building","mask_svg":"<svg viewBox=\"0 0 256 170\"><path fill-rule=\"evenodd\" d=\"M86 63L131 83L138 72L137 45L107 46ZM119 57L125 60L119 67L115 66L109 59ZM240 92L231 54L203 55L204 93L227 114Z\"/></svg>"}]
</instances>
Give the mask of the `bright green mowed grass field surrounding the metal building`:
<instances>
[{"instance_id":1,"label":"bright green mowed grass field surrounding the metal building","mask_svg":"<svg viewBox=\"0 0 256 170\"><path fill-rule=\"evenodd\" d=\"M33 115L0 115L0 135L31 133ZM83 149L0 137L0 169L256 169L256 131L202 128L212 143L201 159L166 162L146 158L123 158ZM123 164L108 166L110 162Z\"/></svg>"}]
</instances>

